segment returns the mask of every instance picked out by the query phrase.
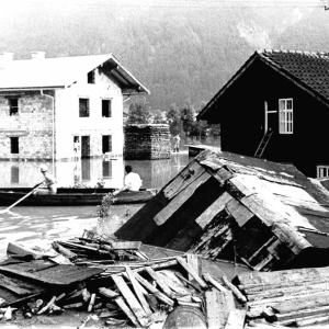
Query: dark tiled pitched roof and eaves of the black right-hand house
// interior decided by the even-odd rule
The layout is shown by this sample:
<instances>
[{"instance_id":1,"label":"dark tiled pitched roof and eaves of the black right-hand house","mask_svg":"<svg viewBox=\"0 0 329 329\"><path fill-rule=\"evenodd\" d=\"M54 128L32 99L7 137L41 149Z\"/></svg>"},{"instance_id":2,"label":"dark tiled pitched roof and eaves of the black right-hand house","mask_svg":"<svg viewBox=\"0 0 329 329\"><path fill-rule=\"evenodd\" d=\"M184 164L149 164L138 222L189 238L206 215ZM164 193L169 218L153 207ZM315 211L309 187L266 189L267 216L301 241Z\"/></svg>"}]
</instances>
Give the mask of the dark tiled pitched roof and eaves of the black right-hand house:
<instances>
[{"instance_id":1,"label":"dark tiled pitched roof and eaves of the black right-hand house","mask_svg":"<svg viewBox=\"0 0 329 329\"><path fill-rule=\"evenodd\" d=\"M277 72L294 81L300 88L311 93L329 105L329 53L299 50L263 50L256 52L234 77L217 92L197 115L204 114L220 98L242 72L257 59L262 60Z\"/></svg>"}]
</instances>

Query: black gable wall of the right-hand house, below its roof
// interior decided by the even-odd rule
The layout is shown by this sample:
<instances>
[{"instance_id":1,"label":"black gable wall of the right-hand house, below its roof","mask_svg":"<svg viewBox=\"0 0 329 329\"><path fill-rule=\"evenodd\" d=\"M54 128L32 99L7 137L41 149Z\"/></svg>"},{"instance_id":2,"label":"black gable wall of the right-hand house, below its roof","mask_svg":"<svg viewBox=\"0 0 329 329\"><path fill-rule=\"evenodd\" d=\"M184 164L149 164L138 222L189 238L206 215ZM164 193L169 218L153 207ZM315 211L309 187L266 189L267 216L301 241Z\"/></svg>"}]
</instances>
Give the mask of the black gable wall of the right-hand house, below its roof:
<instances>
[{"instance_id":1,"label":"black gable wall of the right-hand house, below its roof","mask_svg":"<svg viewBox=\"0 0 329 329\"><path fill-rule=\"evenodd\" d=\"M279 133L279 99L293 99L293 134ZM216 99L202 120L220 124L223 150L252 157L265 133L264 102L269 111L277 112L269 114L273 135L262 157L292 163L307 177L316 177L317 164L329 164L324 151L329 137L328 106L260 59Z\"/></svg>"}]
</instances>

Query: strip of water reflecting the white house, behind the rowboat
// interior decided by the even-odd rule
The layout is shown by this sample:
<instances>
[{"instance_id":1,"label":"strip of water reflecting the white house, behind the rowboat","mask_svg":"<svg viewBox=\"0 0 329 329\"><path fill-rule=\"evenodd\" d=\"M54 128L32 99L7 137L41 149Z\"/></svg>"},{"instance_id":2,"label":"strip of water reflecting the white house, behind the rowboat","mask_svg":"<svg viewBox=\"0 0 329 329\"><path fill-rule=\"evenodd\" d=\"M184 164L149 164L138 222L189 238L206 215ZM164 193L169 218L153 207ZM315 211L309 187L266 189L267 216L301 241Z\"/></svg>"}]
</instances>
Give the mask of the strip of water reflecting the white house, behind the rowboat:
<instances>
[{"instance_id":1,"label":"strip of water reflecting the white house, behind the rowboat","mask_svg":"<svg viewBox=\"0 0 329 329\"><path fill-rule=\"evenodd\" d=\"M57 178L59 186L73 186L83 183L94 186L103 179L106 188L122 188L124 182L124 166L129 163L138 172L144 188L160 189L171 178L177 175L190 161L188 151L172 155L163 160L123 160L84 159L73 161L45 161L49 172ZM0 161L1 188L31 188L43 180L39 172L41 161Z\"/></svg>"}]
</instances>

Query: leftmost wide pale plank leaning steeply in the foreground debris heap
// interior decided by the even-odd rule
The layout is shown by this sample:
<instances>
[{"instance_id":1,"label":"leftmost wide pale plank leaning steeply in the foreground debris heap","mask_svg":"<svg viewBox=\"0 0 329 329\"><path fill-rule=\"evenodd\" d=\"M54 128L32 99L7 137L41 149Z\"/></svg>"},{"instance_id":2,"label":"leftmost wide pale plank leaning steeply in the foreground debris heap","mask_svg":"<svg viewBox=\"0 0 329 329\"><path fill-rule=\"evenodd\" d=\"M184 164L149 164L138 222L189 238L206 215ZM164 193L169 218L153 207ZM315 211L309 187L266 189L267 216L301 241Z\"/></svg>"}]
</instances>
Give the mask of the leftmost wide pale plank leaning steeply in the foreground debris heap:
<instances>
[{"instance_id":1,"label":"leftmost wide pale plank leaning steeply in the foreground debris heap","mask_svg":"<svg viewBox=\"0 0 329 329\"><path fill-rule=\"evenodd\" d=\"M123 280L123 277L118 276L118 275L112 275L111 277L113 279L115 285L117 286L117 288L120 290L120 292L124 296L126 303L132 308L132 310L133 310L134 315L136 316L138 322L143 327L146 327L149 322L149 320L147 318L147 314L145 313L145 310L143 309L143 307L140 306L140 304L136 299L135 295L132 293L132 291L129 290L129 287L127 286L127 284Z\"/></svg>"}]
</instances>

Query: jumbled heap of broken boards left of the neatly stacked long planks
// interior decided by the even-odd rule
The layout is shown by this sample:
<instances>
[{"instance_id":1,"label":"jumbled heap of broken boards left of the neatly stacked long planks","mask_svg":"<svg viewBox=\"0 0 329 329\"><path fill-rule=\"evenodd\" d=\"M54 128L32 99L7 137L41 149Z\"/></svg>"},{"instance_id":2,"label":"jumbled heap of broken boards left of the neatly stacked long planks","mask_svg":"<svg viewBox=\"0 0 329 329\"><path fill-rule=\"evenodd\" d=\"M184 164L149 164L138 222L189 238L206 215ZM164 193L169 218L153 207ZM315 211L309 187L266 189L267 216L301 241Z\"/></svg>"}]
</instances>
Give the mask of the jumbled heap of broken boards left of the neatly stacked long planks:
<instances>
[{"instance_id":1,"label":"jumbled heap of broken boards left of the neatly stacked long planks","mask_svg":"<svg viewBox=\"0 0 329 329\"><path fill-rule=\"evenodd\" d=\"M149 327L184 314L189 328L243 328L247 299L225 275L222 282L211 275L196 256L169 250L149 258L140 247L92 235L53 242L46 252L9 243L11 257L0 264L0 317L78 310L80 328L95 318Z\"/></svg>"}]
</instances>

